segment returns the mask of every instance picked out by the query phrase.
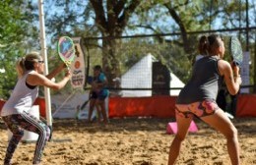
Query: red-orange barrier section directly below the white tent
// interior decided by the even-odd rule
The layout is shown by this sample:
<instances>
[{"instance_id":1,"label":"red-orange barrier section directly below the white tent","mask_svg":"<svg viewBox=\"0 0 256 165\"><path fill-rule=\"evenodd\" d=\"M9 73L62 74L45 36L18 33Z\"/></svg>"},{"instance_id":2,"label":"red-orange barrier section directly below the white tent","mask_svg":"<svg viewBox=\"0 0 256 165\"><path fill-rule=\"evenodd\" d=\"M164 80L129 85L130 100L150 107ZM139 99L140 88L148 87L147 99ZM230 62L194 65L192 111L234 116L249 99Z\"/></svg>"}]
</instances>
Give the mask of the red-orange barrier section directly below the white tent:
<instances>
[{"instance_id":1,"label":"red-orange barrier section directly below the white tent","mask_svg":"<svg viewBox=\"0 0 256 165\"><path fill-rule=\"evenodd\" d=\"M108 116L115 117L158 117L175 116L175 96L152 97L109 97Z\"/></svg>"}]
</instances>

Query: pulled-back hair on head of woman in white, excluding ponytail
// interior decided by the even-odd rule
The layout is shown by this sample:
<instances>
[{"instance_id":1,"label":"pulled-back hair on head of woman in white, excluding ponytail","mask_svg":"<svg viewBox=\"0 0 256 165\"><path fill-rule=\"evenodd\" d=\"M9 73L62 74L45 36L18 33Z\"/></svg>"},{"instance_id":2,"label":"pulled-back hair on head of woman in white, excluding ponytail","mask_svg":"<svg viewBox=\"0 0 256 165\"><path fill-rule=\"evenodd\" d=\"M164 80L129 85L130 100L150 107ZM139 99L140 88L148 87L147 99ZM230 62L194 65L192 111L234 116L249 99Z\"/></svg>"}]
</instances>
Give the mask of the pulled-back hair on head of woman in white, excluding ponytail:
<instances>
[{"instance_id":1,"label":"pulled-back hair on head of woman in white, excluding ponytail","mask_svg":"<svg viewBox=\"0 0 256 165\"><path fill-rule=\"evenodd\" d=\"M26 55L25 57L25 61L24 61L24 68L26 70L33 70L33 64L35 62L38 62L38 60L40 60L40 55L37 52L31 52L29 54Z\"/></svg>"}]
</instances>

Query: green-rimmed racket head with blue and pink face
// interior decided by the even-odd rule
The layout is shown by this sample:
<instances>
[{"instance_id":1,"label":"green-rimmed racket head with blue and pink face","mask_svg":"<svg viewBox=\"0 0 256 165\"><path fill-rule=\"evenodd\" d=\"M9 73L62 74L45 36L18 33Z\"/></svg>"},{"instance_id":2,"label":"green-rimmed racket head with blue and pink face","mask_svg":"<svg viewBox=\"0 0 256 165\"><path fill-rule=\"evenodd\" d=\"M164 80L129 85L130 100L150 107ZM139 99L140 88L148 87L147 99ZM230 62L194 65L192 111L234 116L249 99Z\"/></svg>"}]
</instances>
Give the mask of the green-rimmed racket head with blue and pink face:
<instances>
[{"instance_id":1,"label":"green-rimmed racket head with blue and pink face","mask_svg":"<svg viewBox=\"0 0 256 165\"><path fill-rule=\"evenodd\" d=\"M57 45L60 59L66 64L67 68L71 65L75 58L75 44L68 36L61 36Z\"/></svg>"}]
</instances>

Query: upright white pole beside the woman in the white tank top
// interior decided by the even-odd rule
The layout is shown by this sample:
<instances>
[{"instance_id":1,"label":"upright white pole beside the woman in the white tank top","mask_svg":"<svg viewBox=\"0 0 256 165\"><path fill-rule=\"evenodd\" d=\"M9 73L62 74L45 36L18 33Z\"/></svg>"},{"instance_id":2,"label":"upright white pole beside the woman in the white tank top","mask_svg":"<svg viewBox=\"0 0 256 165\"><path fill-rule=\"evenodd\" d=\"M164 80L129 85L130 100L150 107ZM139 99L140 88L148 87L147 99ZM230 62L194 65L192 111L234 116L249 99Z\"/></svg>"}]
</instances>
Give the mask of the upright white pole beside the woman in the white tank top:
<instances>
[{"instance_id":1,"label":"upright white pole beside the woman in the white tank top","mask_svg":"<svg viewBox=\"0 0 256 165\"><path fill-rule=\"evenodd\" d=\"M41 54L44 60L44 75L48 75L48 59L47 59L47 47L45 41L45 29L44 29L44 13L43 13L43 0L38 0L39 9L39 22L40 22L40 44ZM50 102L50 90L48 87L44 87L45 107L46 107L46 119L47 125L52 125L51 118L51 102Z\"/></svg>"}]
</instances>

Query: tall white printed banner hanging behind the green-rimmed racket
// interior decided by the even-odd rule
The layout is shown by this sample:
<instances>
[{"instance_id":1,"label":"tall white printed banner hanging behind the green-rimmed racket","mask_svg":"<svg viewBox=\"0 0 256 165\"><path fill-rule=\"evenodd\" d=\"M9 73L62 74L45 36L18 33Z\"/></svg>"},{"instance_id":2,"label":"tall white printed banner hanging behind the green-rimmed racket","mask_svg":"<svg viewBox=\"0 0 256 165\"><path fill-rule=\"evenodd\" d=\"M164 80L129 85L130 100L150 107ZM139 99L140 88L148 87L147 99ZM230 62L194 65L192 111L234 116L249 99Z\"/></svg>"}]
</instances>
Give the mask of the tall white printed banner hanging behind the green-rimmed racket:
<instances>
[{"instance_id":1,"label":"tall white printed banner hanging behind the green-rimmed racket","mask_svg":"<svg viewBox=\"0 0 256 165\"><path fill-rule=\"evenodd\" d=\"M76 56L71 64L71 84L74 88L84 88L86 81L85 54L81 46L81 37L72 38L75 43Z\"/></svg>"}]
</instances>

